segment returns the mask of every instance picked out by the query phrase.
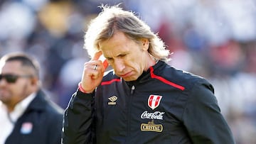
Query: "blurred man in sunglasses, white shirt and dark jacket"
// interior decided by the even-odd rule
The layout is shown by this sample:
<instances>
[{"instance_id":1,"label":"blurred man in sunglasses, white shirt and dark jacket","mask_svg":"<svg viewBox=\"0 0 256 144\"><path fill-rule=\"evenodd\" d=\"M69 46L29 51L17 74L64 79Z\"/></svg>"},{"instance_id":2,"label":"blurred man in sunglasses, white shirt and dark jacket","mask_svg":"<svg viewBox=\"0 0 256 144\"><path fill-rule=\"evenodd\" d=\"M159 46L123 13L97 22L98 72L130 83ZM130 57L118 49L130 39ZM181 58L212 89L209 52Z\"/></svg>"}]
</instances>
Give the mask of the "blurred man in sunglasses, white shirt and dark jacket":
<instances>
[{"instance_id":1,"label":"blurred man in sunglasses, white shirt and dark jacket","mask_svg":"<svg viewBox=\"0 0 256 144\"><path fill-rule=\"evenodd\" d=\"M63 109L43 93L39 65L24 53L0 60L0 144L57 144Z\"/></svg>"}]
</instances>

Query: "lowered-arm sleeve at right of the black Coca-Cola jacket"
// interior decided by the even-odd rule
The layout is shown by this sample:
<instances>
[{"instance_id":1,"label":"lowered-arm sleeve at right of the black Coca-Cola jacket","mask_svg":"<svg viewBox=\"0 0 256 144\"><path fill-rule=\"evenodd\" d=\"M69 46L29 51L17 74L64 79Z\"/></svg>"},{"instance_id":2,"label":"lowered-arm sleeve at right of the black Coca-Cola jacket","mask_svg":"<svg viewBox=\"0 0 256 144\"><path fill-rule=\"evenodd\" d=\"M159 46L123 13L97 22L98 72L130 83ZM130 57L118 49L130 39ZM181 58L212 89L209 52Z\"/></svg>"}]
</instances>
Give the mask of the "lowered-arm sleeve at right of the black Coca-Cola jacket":
<instances>
[{"instance_id":1,"label":"lowered-arm sleeve at right of the black Coca-Cola jacket","mask_svg":"<svg viewBox=\"0 0 256 144\"><path fill-rule=\"evenodd\" d=\"M184 125L193 143L233 144L233 135L213 92L205 79L194 85L183 113Z\"/></svg>"}]
</instances>

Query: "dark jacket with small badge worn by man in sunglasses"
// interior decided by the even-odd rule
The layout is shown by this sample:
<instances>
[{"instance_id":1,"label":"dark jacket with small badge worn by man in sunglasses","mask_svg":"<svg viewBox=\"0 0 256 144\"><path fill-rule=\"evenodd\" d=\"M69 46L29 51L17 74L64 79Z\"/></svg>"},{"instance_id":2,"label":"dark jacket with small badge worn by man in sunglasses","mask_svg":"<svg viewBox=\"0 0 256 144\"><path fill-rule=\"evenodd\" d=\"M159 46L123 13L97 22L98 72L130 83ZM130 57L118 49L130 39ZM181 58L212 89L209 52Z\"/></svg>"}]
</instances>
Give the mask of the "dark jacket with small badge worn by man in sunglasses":
<instances>
[{"instance_id":1,"label":"dark jacket with small badge worn by man in sunglasses","mask_svg":"<svg viewBox=\"0 0 256 144\"><path fill-rule=\"evenodd\" d=\"M62 121L63 109L40 90L16 121L5 144L60 144Z\"/></svg>"}]
</instances>

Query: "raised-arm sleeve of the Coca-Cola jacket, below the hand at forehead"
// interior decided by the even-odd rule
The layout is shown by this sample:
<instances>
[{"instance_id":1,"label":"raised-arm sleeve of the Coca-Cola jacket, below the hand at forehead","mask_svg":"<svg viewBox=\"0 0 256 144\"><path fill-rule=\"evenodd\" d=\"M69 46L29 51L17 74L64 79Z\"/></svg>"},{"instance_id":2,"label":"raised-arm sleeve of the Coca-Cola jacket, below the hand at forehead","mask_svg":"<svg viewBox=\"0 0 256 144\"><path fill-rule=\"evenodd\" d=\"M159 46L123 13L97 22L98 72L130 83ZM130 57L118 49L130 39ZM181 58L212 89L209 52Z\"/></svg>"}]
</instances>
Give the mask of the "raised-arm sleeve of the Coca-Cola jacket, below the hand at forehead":
<instances>
[{"instance_id":1,"label":"raised-arm sleeve of the Coca-Cola jacket, below the hand at forehead","mask_svg":"<svg viewBox=\"0 0 256 144\"><path fill-rule=\"evenodd\" d=\"M93 94L79 90L73 94L65 109L63 120L63 144L92 143Z\"/></svg>"}]
</instances>

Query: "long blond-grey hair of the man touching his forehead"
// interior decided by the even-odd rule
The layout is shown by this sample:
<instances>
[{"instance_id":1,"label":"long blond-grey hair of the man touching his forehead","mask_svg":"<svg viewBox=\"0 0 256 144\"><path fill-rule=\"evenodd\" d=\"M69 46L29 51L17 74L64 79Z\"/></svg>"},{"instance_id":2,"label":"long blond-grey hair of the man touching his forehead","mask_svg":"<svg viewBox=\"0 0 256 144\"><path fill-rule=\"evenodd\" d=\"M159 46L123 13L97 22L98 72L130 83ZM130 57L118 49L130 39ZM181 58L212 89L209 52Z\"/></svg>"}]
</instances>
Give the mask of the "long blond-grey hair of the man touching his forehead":
<instances>
[{"instance_id":1,"label":"long blond-grey hair of the man touching his forehead","mask_svg":"<svg viewBox=\"0 0 256 144\"><path fill-rule=\"evenodd\" d=\"M85 45L90 57L100 51L99 43L112 38L115 31L120 31L128 38L139 42L142 38L149 40L149 54L156 60L169 60L170 52L164 42L151 31L149 26L132 11L124 11L119 5L100 6L102 11L90 21L85 33Z\"/></svg>"}]
</instances>

